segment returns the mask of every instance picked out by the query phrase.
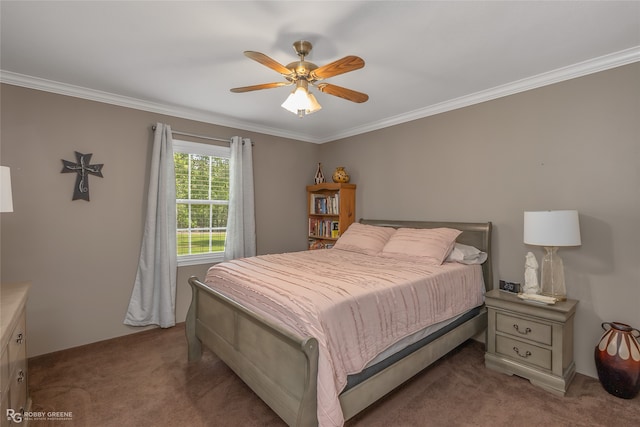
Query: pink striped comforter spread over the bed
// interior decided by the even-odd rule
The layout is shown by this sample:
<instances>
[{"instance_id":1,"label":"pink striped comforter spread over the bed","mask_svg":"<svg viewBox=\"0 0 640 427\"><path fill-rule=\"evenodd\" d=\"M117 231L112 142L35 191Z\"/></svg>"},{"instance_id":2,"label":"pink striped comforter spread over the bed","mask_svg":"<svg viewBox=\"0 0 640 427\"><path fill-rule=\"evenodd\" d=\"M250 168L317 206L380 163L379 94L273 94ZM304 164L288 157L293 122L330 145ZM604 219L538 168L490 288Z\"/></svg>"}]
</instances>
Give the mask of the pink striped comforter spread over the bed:
<instances>
[{"instance_id":1,"label":"pink striped comforter spread over the bed","mask_svg":"<svg viewBox=\"0 0 640 427\"><path fill-rule=\"evenodd\" d=\"M484 298L479 265L429 266L339 249L217 264L205 283L318 340L320 426L343 425L338 395L349 374L403 337Z\"/></svg>"}]
</instances>

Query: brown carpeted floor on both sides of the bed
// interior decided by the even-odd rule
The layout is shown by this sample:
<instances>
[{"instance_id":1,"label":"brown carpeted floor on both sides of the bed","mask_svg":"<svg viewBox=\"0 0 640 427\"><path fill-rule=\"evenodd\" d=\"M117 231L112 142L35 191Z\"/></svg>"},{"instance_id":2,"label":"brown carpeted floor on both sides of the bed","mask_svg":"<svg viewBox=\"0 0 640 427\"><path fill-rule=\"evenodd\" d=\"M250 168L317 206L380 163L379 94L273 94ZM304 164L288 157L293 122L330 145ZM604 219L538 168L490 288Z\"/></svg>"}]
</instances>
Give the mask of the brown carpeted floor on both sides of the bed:
<instances>
[{"instance_id":1,"label":"brown carpeted floor on both sides of the bed","mask_svg":"<svg viewBox=\"0 0 640 427\"><path fill-rule=\"evenodd\" d=\"M216 356L187 362L184 325L155 329L29 360L31 426L284 426ZM64 415L64 414L63 414ZM608 394L578 374L567 396L484 367L468 341L347 427L640 425L640 396Z\"/></svg>"}]
</instances>

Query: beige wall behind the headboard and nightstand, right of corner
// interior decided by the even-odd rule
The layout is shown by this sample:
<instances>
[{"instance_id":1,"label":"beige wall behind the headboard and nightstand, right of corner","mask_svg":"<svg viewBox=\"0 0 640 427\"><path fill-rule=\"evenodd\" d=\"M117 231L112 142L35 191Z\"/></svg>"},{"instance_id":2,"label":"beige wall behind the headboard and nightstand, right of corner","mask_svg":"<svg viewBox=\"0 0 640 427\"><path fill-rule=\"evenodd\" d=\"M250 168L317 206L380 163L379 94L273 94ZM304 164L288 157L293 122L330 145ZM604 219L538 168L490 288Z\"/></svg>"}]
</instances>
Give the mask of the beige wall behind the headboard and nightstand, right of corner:
<instances>
[{"instance_id":1,"label":"beige wall behind the headboard and nightstand, right of corner","mask_svg":"<svg viewBox=\"0 0 640 427\"><path fill-rule=\"evenodd\" d=\"M524 281L525 210L577 209L560 249L580 300L577 370L595 376L601 322L640 327L640 64L322 146L358 184L358 216L492 221L494 274Z\"/></svg>"}]
</instances>

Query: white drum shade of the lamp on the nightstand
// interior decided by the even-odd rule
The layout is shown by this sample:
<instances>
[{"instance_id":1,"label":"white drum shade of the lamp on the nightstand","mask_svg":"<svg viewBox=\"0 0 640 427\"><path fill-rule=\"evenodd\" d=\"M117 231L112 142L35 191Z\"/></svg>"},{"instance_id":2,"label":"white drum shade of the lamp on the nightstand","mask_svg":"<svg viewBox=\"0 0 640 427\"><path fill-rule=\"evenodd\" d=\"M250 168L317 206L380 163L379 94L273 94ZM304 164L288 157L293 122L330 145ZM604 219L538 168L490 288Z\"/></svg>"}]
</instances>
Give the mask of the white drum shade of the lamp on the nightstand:
<instances>
[{"instance_id":1,"label":"white drum shade of the lamp on the nightstand","mask_svg":"<svg viewBox=\"0 0 640 427\"><path fill-rule=\"evenodd\" d=\"M537 246L580 246L578 211L524 213L524 243Z\"/></svg>"}]
</instances>

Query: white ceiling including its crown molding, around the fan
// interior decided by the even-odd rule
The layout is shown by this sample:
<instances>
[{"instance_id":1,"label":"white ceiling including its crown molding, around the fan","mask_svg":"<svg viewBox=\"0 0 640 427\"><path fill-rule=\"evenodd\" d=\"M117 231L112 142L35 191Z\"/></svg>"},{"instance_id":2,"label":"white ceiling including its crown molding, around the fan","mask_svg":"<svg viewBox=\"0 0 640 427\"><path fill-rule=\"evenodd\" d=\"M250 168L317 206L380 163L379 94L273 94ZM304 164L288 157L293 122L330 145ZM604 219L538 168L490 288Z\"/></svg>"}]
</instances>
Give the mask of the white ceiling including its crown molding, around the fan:
<instances>
[{"instance_id":1,"label":"white ceiling including its crown molding, around the fan","mask_svg":"<svg viewBox=\"0 0 640 427\"><path fill-rule=\"evenodd\" d=\"M640 2L6 1L0 81L322 143L640 61ZM280 107L290 87L243 55L283 65L296 40L322 66L365 67L326 81L369 95L315 94L323 109Z\"/></svg>"}]
</instances>

